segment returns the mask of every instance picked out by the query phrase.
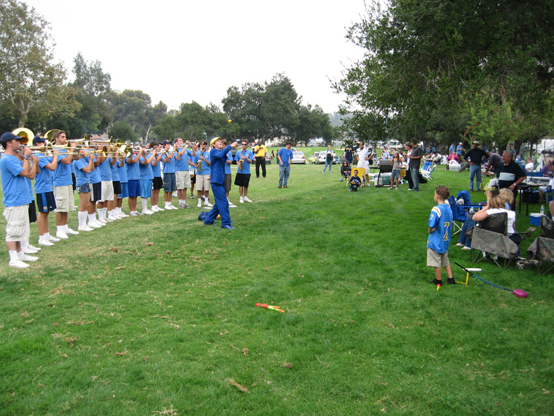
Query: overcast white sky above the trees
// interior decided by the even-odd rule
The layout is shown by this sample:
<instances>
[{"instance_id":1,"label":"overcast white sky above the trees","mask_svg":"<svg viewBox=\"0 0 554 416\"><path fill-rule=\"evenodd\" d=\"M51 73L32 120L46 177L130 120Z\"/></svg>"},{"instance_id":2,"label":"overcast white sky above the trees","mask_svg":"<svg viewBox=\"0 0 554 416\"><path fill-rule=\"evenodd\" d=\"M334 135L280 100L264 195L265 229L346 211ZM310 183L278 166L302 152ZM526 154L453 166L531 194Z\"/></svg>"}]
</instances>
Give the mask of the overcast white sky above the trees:
<instances>
[{"instance_id":1,"label":"overcast white sky above the trees","mask_svg":"<svg viewBox=\"0 0 554 416\"><path fill-rule=\"evenodd\" d=\"M345 39L364 0L23 0L51 22L56 60L100 60L112 89L141 89L171 108L221 100L232 85L285 73L303 104L338 110L329 79L363 51Z\"/></svg>"}]
</instances>

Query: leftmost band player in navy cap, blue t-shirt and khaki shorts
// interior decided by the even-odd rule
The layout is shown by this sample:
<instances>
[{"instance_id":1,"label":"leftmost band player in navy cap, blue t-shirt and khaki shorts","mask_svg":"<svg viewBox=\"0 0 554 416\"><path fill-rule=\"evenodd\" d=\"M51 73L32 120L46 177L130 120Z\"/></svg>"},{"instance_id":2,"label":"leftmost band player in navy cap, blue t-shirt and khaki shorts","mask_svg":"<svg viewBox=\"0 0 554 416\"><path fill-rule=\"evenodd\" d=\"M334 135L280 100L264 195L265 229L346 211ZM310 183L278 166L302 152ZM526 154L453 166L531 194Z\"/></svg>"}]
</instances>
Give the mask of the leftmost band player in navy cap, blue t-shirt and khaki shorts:
<instances>
[{"instance_id":1,"label":"leftmost band player in navy cap, blue t-shirt and khaki shorts","mask_svg":"<svg viewBox=\"0 0 554 416\"><path fill-rule=\"evenodd\" d=\"M10 254L8 266L27 268L25 261L37 261L38 257L25 254L21 241L28 240L30 235L29 204L31 198L26 179L31 179L29 148L24 150L21 159L19 144L21 137L11 132L2 135L0 142L4 154L0 157L0 177L3 191L3 216L6 218L6 245Z\"/></svg>"}]
</instances>

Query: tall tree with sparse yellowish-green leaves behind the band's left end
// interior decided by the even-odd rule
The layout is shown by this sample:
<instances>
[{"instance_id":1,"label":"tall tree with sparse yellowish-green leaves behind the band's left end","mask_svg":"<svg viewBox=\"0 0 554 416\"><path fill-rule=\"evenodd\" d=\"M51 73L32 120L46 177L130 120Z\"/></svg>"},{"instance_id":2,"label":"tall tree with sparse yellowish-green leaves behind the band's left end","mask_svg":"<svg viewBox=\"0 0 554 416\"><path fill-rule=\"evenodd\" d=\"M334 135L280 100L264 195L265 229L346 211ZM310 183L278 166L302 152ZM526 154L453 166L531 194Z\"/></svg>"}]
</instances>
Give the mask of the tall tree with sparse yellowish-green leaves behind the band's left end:
<instances>
[{"instance_id":1,"label":"tall tree with sparse yellowish-green leaves behind the band's left end","mask_svg":"<svg viewBox=\"0 0 554 416\"><path fill-rule=\"evenodd\" d=\"M20 127L51 114L73 114L80 108L75 91L64 85L66 73L53 64L46 20L16 0L0 0L0 94Z\"/></svg>"}]
</instances>

